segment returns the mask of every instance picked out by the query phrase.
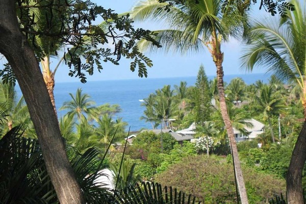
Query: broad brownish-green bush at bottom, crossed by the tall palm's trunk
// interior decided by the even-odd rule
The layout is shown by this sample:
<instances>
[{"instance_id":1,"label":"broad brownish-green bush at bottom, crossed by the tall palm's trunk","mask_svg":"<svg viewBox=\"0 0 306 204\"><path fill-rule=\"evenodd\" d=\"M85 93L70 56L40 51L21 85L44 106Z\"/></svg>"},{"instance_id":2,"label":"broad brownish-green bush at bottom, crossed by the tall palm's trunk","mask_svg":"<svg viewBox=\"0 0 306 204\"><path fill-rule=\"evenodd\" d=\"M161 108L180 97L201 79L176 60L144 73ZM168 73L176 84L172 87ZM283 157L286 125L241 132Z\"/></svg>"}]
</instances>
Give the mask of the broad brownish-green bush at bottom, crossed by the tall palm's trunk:
<instances>
[{"instance_id":1,"label":"broad brownish-green bush at bottom, crossed by the tall palm's trunk","mask_svg":"<svg viewBox=\"0 0 306 204\"><path fill-rule=\"evenodd\" d=\"M266 203L266 198L285 192L285 181L243 169L249 203ZM232 163L217 156L191 156L156 175L156 181L192 193L205 203L237 203Z\"/></svg>"}]
</instances>

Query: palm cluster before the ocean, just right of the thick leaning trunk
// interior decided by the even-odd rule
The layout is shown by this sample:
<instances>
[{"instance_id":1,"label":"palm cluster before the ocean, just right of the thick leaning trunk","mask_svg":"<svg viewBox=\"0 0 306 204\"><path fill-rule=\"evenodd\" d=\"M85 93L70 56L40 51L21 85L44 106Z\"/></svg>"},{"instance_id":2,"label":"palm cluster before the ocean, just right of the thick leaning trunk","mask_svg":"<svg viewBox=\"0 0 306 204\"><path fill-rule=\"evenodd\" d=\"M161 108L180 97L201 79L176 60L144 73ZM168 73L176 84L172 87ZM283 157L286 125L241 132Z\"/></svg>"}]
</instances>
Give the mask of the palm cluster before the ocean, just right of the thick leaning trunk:
<instances>
[{"instance_id":1,"label":"palm cluster before the ocean, just right of the thick leaning trunk","mask_svg":"<svg viewBox=\"0 0 306 204\"><path fill-rule=\"evenodd\" d=\"M113 137L114 142L123 140L127 123L120 117L114 119L114 114L121 111L118 105L94 106L94 101L80 88L75 95L69 95L71 100L64 102L60 108L68 111L61 118L60 127L63 137L70 144L83 152L92 146L110 145Z\"/></svg>"}]
</instances>

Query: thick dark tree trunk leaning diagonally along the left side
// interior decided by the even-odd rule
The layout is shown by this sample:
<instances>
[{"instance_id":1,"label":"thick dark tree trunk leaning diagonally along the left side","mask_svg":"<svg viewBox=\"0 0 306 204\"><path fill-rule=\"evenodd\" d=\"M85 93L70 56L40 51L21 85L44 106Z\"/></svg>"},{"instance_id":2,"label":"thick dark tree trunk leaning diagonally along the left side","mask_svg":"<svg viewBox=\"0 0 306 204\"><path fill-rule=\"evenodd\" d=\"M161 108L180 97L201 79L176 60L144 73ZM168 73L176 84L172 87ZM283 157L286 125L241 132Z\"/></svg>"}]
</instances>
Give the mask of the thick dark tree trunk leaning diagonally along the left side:
<instances>
[{"instance_id":1,"label":"thick dark tree trunk leaning diagonally along the left side","mask_svg":"<svg viewBox=\"0 0 306 204\"><path fill-rule=\"evenodd\" d=\"M19 31L15 1L0 1L0 53L10 63L28 105L50 179L61 204L85 203L67 159L58 120L38 61Z\"/></svg>"}]
</instances>

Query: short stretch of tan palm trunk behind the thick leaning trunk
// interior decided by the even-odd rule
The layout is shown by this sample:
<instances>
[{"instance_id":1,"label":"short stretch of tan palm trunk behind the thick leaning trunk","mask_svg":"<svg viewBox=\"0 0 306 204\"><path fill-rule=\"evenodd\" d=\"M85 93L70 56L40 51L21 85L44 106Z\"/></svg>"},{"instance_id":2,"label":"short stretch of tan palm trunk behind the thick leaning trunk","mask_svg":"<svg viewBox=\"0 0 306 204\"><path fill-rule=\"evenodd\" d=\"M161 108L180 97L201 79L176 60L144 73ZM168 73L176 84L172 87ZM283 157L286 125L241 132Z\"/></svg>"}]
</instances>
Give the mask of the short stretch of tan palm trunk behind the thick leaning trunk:
<instances>
[{"instance_id":1,"label":"short stretch of tan palm trunk behind the thick leaning trunk","mask_svg":"<svg viewBox=\"0 0 306 204\"><path fill-rule=\"evenodd\" d=\"M46 84L54 112L56 116L58 116L55 106L55 99L54 99L54 85L55 85L54 73L50 70L49 56L44 57L44 59L41 60L41 64L42 64L43 80Z\"/></svg>"}]
</instances>

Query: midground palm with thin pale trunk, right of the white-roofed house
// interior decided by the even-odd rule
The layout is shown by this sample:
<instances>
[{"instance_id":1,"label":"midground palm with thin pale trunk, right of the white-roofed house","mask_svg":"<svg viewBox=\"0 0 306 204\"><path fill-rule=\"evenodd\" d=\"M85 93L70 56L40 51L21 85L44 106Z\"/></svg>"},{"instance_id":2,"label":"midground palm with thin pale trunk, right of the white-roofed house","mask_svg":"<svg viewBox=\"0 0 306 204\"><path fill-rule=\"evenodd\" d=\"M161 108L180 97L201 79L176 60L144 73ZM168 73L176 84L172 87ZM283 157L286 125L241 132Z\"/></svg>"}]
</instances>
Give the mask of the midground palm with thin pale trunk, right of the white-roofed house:
<instances>
[{"instance_id":1,"label":"midground palm with thin pale trunk, right of the white-roofed house","mask_svg":"<svg viewBox=\"0 0 306 204\"><path fill-rule=\"evenodd\" d=\"M256 96L256 103L257 107L262 110L264 117L268 119L271 138L275 143L271 117L285 110L284 98L279 94L279 91L273 92L272 86L264 85L259 96Z\"/></svg>"}]
</instances>

